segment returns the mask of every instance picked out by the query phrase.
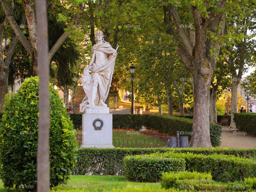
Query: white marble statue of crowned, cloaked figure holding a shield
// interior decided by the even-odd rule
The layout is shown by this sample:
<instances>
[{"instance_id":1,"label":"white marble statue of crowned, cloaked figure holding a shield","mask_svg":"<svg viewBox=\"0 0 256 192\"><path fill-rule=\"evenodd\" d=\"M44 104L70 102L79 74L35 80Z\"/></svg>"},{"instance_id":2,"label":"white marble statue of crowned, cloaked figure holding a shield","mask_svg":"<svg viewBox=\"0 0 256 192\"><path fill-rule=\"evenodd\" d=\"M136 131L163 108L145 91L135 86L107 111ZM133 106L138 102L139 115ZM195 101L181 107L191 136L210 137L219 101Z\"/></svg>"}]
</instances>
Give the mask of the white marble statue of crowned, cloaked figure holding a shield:
<instances>
[{"instance_id":1,"label":"white marble statue of crowned, cloaked figure holding a shield","mask_svg":"<svg viewBox=\"0 0 256 192\"><path fill-rule=\"evenodd\" d=\"M117 50L104 41L102 31L96 31L95 38L97 43L91 50L93 55L90 64L85 67L81 78L86 93L81 104L81 112L85 112L86 107L107 106L104 102L109 94L115 59L117 58ZM93 71L93 73L90 74L89 71Z\"/></svg>"}]
</instances>

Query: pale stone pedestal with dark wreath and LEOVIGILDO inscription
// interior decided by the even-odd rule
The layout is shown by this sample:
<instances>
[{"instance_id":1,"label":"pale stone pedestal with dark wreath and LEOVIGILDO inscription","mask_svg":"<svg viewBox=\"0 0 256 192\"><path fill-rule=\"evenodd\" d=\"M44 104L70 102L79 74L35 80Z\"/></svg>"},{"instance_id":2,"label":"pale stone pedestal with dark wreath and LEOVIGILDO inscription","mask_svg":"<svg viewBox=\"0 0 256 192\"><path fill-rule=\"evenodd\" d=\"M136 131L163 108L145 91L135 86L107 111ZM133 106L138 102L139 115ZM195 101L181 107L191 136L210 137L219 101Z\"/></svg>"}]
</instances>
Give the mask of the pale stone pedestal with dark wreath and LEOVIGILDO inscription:
<instances>
[{"instance_id":1,"label":"pale stone pedestal with dark wreath and LEOVIGILDO inscription","mask_svg":"<svg viewBox=\"0 0 256 192\"><path fill-rule=\"evenodd\" d=\"M109 113L109 107L86 108L82 115L82 133L80 147L114 147L112 144L112 114Z\"/></svg>"}]
</instances>

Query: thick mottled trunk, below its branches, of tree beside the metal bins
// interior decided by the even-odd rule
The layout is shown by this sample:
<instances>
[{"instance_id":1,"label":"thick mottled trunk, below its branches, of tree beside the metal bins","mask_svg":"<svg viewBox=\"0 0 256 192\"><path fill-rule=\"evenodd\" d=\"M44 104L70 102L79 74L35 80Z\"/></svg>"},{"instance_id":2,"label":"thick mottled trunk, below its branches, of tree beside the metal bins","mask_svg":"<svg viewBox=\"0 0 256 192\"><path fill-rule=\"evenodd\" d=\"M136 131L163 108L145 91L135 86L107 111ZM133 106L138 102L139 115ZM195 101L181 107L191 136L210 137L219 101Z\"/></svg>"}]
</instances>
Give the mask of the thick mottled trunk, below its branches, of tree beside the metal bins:
<instances>
[{"instance_id":1,"label":"thick mottled trunk, below its branches, of tree beside the metal bins","mask_svg":"<svg viewBox=\"0 0 256 192\"><path fill-rule=\"evenodd\" d=\"M194 117L190 147L212 147L210 139L209 93L211 75L193 74Z\"/></svg>"}]
</instances>

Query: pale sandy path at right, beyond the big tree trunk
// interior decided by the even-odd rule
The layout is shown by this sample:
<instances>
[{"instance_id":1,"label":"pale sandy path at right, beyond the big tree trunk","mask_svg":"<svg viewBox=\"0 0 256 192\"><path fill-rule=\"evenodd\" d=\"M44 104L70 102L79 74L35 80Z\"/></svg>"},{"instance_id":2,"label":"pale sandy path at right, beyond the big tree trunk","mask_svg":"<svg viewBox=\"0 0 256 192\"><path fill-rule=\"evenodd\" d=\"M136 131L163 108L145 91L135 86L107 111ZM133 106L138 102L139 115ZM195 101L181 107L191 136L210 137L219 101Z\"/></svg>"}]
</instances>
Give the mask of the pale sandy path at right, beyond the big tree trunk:
<instances>
[{"instance_id":1,"label":"pale sandy path at right, beyond the big tree trunk","mask_svg":"<svg viewBox=\"0 0 256 192\"><path fill-rule=\"evenodd\" d=\"M236 129L222 128L221 147L253 148L256 147L256 137L251 137Z\"/></svg>"}]
</instances>

